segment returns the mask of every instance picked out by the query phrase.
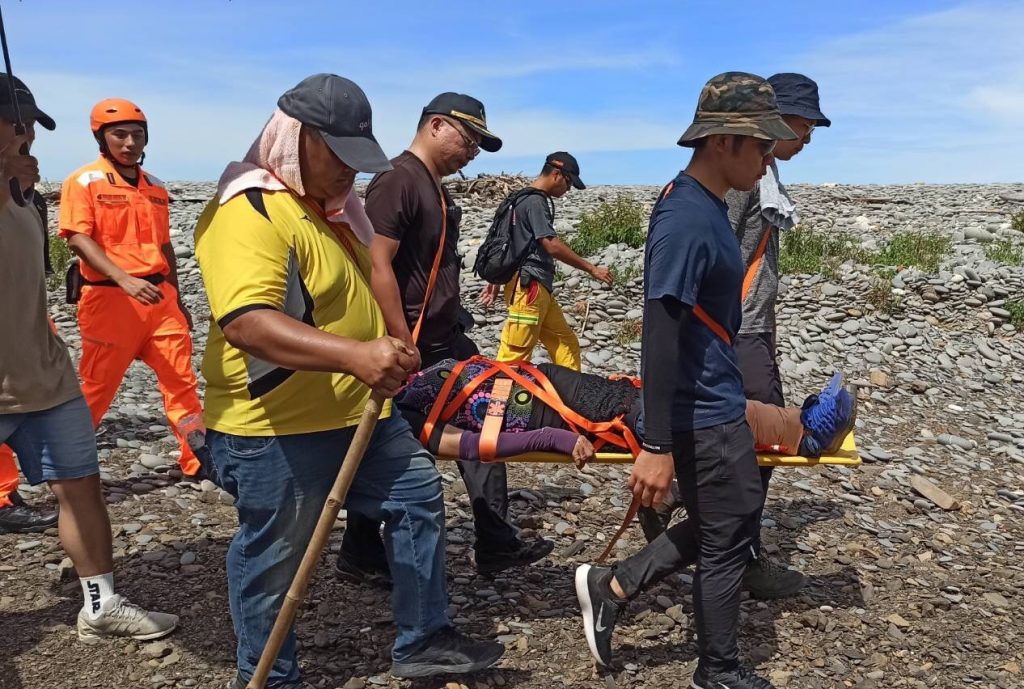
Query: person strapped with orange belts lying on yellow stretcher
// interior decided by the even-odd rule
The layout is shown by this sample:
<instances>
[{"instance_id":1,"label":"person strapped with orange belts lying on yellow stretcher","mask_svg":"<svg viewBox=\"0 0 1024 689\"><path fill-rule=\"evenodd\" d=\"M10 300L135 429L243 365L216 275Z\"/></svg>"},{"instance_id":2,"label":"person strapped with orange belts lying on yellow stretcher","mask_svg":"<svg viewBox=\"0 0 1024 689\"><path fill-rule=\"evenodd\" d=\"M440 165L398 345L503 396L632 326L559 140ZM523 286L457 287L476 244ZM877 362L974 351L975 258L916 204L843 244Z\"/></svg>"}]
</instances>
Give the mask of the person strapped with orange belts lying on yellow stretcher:
<instances>
[{"instance_id":1,"label":"person strapped with orange belts lying on yellow stretcher","mask_svg":"<svg viewBox=\"0 0 1024 689\"><path fill-rule=\"evenodd\" d=\"M458 378L447 385L453 371ZM481 381L487 373L494 375ZM492 389L496 379L508 377L513 383L504 402L504 419L490 444L483 443L493 455L487 457L486 449L481 454L481 438ZM595 441L612 451L636 454L631 445L642 433L640 400L635 379L582 374L553 363L498 363L479 356L443 359L424 369L394 397L414 433L436 456L495 461L526 453L558 453L571 457L581 468L594 459ZM759 453L811 458L835 454L855 420L856 394L843 386L840 374L799 407L746 401L746 421ZM605 433L589 432L608 426L613 428Z\"/></svg>"}]
</instances>

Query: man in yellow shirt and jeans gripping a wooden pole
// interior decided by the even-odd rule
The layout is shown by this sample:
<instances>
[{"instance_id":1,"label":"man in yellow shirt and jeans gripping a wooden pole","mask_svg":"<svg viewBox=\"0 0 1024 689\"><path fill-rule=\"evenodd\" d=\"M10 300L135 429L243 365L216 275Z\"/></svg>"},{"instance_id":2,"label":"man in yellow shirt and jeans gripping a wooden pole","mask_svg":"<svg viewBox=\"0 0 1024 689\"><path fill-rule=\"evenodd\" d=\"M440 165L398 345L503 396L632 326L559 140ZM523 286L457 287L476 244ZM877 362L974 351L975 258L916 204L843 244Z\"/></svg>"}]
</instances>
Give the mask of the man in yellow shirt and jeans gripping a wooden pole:
<instances>
[{"instance_id":1,"label":"man in yellow shirt and jeans gripping a wooden pole","mask_svg":"<svg viewBox=\"0 0 1024 689\"><path fill-rule=\"evenodd\" d=\"M362 213L350 195L356 172L389 167L362 90L314 75L279 99L196 229L214 318L203 361L207 444L239 511L227 553L237 687L252 678L370 391L393 395L420 363L415 348L385 335L370 289L372 230L354 231L351 219ZM504 648L450 626L440 477L390 403L381 416L346 507L384 522L401 583L391 672L482 670ZM310 686L294 634L267 686Z\"/></svg>"}]
</instances>

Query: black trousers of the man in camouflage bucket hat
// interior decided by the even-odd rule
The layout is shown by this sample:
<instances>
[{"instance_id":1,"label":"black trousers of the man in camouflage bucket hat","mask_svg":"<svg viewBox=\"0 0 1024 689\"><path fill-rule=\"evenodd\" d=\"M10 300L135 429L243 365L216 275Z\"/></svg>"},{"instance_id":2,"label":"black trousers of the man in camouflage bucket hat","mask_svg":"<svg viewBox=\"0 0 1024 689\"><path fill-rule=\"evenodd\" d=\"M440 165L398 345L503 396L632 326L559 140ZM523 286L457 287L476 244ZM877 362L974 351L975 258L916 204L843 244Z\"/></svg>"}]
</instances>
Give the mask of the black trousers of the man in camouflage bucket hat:
<instances>
[{"instance_id":1,"label":"black trousers of the man in camouflage bucket hat","mask_svg":"<svg viewBox=\"0 0 1024 689\"><path fill-rule=\"evenodd\" d=\"M676 476L686 519L673 524L615 569L633 598L665 576L695 564L693 612L699 664L711 672L738 662L740 583L752 525L764 491L746 419L673 437Z\"/></svg>"}]
</instances>

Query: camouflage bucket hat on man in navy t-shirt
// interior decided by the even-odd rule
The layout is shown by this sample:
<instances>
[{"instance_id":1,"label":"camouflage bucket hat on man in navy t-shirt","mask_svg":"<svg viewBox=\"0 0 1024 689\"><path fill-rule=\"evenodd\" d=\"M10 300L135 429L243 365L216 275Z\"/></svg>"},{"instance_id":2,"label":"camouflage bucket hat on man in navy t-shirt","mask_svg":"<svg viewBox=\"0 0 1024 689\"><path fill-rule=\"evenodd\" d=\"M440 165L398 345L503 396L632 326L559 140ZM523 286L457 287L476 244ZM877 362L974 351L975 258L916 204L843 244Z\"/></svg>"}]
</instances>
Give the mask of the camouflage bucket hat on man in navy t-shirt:
<instances>
[{"instance_id":1,"label":"camouflage bucket hat on man in navy t-shirt","mask_svg":"<svg viewBox=\"0 0 1024 689\"><path fill-rule=\"evenodd\" d=\"M705 84L693 124L683 132L679 145L692 146L697 139L712 134L772 140L797 138L779 115L771 85L745 72L726 72Z\"/></svg>"}]
</instances>

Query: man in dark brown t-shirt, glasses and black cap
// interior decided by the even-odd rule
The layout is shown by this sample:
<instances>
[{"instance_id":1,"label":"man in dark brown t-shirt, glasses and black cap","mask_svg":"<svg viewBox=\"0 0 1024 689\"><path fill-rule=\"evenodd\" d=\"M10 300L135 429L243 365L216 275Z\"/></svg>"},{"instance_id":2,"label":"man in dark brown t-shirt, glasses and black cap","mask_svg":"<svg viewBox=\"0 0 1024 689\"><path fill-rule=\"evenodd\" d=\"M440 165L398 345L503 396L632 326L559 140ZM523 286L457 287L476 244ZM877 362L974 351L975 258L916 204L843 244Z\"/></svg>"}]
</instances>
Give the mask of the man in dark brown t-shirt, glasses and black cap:
<instances>
[{"instance_id":1,"label":"man in dark brown t-shirt, glasses and black cap","mask_svg":"<svg viewBox=\"0 0 1024 689\"><path fill-rule=\"evenodd\" d=\"M479 353L459 319L462 209L441 180L468 165L481 148L490 153L501 148L502 141L487 130L485 118L476 98L441 93L423 109L409 149L367 189L367 214L377 232L371 248L374 294L388 333L418 347L423 367ZM478 571L529 564L551 552L553 543L520 541L508 522L504 465L458 464L473 506ZM340 575L360 583L387 582L379 526L349 515L338 556Z\"/></svg>"}]
</instances>

